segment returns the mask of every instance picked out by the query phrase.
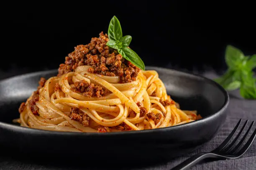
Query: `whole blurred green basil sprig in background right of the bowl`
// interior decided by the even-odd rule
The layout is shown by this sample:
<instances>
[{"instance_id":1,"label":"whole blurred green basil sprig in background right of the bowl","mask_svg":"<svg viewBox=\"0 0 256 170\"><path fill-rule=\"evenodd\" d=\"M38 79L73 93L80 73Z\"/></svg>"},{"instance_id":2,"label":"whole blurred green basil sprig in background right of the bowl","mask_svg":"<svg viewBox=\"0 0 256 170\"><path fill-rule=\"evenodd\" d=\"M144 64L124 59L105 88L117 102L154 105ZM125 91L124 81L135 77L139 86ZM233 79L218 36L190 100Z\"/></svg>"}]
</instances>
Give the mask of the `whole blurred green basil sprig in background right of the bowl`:
<instances>
[{"instance_id":1,"label":"whole blurred green basil sprig in background right of the bowl","mask_svg":"<svg viewBox=\"0 0 256 170\"><path fill-rule=\"evenodd\" d=\"M226 90L240 88L240 95L246 99L256 99L256 82L253 69L256 67L256 55L245 56L243 52L228 45L225 52L228 70L215 79Z\"/></svg>"}]
</instances>

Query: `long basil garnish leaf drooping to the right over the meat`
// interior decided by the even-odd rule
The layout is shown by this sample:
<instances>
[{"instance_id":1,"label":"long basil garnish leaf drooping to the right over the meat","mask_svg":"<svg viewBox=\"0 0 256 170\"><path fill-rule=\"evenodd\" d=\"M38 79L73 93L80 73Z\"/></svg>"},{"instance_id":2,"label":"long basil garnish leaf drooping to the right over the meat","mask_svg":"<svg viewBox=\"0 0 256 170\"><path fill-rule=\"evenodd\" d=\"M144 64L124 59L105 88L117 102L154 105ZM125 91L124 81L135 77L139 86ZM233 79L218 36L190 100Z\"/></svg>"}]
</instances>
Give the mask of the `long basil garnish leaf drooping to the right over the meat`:
<instances>
[{"instance_id":1,"label":"long basil garnish leaf drooping to the right over the meat","mask_svg":"<svg viewBox=\"0 0 256 170\"><path fill-rule=\"evenodd\" d=\"M118 49L118 52L128 61L139 67L141 70L145 70L144 62L141 60L141 58L138 56L136 52L134 52L132 49L123 47L121 49Z\"/></svg>"}]
</instances>

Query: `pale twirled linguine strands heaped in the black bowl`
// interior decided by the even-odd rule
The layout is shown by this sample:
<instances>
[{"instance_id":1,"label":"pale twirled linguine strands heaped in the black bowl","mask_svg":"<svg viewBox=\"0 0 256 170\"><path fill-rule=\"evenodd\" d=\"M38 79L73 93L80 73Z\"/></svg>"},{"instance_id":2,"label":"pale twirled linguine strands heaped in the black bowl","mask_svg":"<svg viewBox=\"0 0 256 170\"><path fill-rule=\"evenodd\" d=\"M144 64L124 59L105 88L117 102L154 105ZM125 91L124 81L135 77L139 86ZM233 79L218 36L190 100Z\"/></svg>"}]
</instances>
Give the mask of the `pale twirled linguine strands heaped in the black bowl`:
<instances>
[{"instance_id":1,"label":"pale twirled linguine strands heaped in the black bowl","mask_svg":"<svg viewBox=\"0 0 256 170\"><path fill-rule=\"evenodd\" d=\"M25 103L15 122L28 128L68 132L116 132L165 128L197 120L196 111L180 110L166 93L164 83L154 70L140 70L136 81L120 83L119 76L87 72L90 66L79 66L74 72L49 78L38 90L38 115ZM108 89L103 97L86 97L72 90L75 82L85 80ZM59 83L60 89L54 87ZM167 101L169 104L164 104ZM72 120L69 112L78 108L89 118L88 126ZM141 108L146 112L141 112ZM120 129L120 125L122 127ZM105 131L99 130L105 128ZM106 130L107 129L107 130Z\"/></svg>"}]
</instances>

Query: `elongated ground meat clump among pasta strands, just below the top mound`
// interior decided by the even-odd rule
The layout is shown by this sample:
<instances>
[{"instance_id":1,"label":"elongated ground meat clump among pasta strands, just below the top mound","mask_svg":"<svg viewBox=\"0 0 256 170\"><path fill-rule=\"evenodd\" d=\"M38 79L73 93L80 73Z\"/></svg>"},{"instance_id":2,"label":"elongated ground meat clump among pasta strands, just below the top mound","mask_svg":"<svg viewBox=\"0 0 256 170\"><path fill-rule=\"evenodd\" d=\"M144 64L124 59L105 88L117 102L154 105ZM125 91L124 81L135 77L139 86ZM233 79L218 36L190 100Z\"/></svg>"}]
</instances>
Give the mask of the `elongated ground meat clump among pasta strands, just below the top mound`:
<instances>
[{"instance_id":1,"label":"elongated ground meat clump among pasta strands, just below the top mound","mask_svg":"<svg viewBox=\"0 0 256 170\"><path fill-rule=\"evenodd\" d=\"M85 80L74 83L74 87L71 88L73 91L83 93L85 97L102 97L110 94L110 91L100 85L95 85L93 83L89 84Z\"/></svg>"}]
</instances>

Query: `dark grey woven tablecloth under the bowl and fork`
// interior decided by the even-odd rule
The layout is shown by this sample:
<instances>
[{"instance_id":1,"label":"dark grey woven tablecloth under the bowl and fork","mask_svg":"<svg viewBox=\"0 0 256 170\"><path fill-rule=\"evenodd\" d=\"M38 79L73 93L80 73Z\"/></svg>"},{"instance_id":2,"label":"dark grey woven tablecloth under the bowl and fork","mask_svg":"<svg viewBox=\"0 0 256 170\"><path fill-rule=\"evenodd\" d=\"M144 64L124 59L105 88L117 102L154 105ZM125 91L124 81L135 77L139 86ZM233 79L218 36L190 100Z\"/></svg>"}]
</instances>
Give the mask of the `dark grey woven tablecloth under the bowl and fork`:
<instances>
[{"instance_id":1,"label":"dark grey woven tablecloth under the bowl and fork","mask_svg":"<svg viewBox=\"0 0 256 170\"><path fill-rule=\"evenodd\" d=\"M205 77L214 78L216 75L213 72L207 72ZM125 165L115 166L117 169L134 169L134 170L169 170L175 165L182 163L184 160L199 152L207 152L218 147L220 143L226 138L226 136L233 130L236 123L240 118L244 120L256 120L256 100L244 100L240 97L238 91L230 92L230 104L228 106L228 116L225 124L218 132L218 134L202 146L202 148L195 150L192 153L187 154L184 157L170 160L168 163L161 163L155 165L136 165L134 167L125 168ZM255 126L254 126L255 127ZM10 157L5 157L0 153L0 170L76 170L76 169L97 169L97 168L81 168L57 167L54 165L44 165L44 161L41 163L32 163L29 161L20 161ZM249 150L243 155L242 158L236 160L218 160L207 161L200 163L192 168L192 170L256 170L256 141Z\"/></svg>"}]
</instances>

